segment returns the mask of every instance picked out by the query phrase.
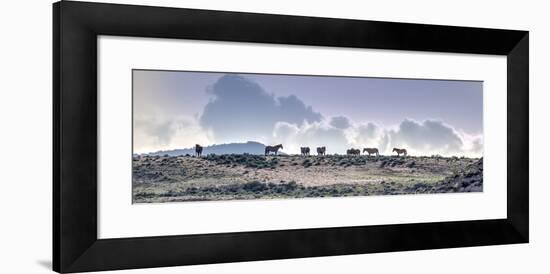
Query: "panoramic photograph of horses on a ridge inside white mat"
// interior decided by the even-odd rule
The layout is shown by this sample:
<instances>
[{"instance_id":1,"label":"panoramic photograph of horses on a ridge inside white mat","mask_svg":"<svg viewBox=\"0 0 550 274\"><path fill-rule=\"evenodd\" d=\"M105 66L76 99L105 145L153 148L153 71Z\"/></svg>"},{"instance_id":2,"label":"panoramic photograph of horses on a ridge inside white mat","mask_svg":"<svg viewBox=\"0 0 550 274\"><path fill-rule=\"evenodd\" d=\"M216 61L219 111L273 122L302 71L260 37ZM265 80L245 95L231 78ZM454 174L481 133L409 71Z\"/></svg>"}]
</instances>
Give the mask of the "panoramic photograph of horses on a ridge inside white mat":
<instances>
[{"instance_id":1,"label":"panoramic photograph of horses on a ridge inside white mat","mask_svg":"<svg viewBox=\"0 0 550 274\"><path fill-rule=\"evenodd\" d=\"M483 82L133 70L133 203L483 191Z\"/></svg>"}]
</instances>

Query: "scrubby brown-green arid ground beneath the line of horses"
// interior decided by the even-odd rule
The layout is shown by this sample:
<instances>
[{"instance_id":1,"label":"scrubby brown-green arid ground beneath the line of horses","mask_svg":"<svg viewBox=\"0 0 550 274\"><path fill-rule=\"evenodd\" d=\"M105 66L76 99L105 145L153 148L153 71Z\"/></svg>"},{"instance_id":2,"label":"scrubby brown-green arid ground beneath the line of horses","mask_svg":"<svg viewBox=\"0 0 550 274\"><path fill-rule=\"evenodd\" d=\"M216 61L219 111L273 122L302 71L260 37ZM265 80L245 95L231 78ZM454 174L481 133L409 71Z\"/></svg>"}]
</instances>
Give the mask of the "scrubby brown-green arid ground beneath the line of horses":
<instances>
[{"instance_id":1,"label":"scrubby brown-green arid ground beneath the line of horses","mask_svg":"<svg viewBox=\"0 0 550 274\"><path fill-rule=\"evenodd\" d=\"M134 203L480 192L483 159L137 156Z\"/></svg>"}]
</instances>

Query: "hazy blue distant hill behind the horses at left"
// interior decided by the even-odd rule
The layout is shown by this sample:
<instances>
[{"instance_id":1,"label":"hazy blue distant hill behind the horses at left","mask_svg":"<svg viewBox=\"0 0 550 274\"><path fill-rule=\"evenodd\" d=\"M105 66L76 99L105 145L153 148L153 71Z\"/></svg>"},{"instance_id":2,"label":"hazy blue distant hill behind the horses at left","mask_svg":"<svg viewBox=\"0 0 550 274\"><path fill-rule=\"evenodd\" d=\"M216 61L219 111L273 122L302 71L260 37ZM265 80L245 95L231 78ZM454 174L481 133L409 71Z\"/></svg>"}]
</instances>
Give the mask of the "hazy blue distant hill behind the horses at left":
<instances>
[{"instance_id":1,"label":"hazy blue distant hill behind the horses at left","mask_svg":"<svg viewBox=\"0 0 550 274\"><path fill-rule=\"evenodd\" d=\"M265 145L258 142L248 141L246 143L230 143L221 145L211 145L204 147L202 154L264 154ZM193 155L195 154L195 148L173 149L173 150L161 150L157 152L145 153L144 155L151 156L181 156L181 155Z\"/></svg>"}]
</instances>

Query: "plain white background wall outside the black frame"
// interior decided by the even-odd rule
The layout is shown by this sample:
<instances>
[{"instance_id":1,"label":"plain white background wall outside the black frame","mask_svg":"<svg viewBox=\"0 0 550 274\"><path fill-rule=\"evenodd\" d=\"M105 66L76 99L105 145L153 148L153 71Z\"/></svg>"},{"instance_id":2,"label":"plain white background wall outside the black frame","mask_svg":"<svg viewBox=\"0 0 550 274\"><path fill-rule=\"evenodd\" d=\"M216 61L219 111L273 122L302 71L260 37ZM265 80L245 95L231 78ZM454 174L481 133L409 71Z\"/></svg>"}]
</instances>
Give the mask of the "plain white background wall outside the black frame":
<instances>
[{"instance_id":1,"label":"plain white background wall outside the black frame","mask_svg":"<svg viewBox=\"0 0 550 274\"><path fill-rule=\"evenodd\" d=\"M103 1L530 31L531 243L117 273L549 273L550 20L545 1ZM51 268L51 1L0 9L0 272ZM527 153L527 152L526 152ZM546 260L545 260L546 259Z\"/></svg>"}]
</instances>

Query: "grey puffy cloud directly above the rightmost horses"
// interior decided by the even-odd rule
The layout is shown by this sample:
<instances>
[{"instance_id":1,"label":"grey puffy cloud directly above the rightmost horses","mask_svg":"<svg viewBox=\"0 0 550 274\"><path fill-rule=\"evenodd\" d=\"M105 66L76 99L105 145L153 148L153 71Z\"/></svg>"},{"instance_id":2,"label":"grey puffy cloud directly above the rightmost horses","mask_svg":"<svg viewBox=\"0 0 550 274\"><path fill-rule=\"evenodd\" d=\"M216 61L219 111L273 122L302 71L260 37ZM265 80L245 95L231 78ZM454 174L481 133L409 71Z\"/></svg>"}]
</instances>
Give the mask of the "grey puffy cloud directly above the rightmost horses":
<instances>
[{"instance_id":1,"label":"grey puffy cloud directly above the rightmost horses","mask_svg":"<svg viewBox=\"0 0 550 274\"><path fill-rule=\"evenodd\" d=\"M426 120L416 122L405 119L399 128L390 132L391 144L419 152L459 153L462 151L462 138L441 121Z\"/></svg>"}]
</instances>

